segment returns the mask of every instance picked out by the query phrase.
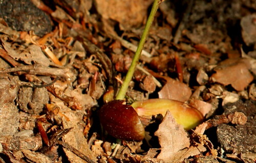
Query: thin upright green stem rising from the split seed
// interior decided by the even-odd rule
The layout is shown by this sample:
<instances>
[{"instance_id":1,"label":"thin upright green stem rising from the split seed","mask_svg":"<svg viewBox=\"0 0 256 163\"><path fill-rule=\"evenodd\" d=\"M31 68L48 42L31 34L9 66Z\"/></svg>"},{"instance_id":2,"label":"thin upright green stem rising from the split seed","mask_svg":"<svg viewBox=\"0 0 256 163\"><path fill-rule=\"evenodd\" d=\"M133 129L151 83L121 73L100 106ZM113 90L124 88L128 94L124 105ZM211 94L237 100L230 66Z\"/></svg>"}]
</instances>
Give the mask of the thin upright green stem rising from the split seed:
<instances>
[{"instance_id":1,"label":"thin upright green stem rising from the split seed","mask_svg":"<svg viewBox=\"0 0 256 163\"><path fill-rule=\"evenodd\" d=\"M151 9L151 13L150 13L150 16L148 16L148 19L146 21L146 25L145 25L145 29L142 33L142 36L141 36L141 39L140 39L140 42L139 42L139 45L138 45L138 48L135 52L135 55L133 57L133 61L132 61L132 64L124 78L124 81L123 81L123 84L120 88L120 90L118 91L118 94L116 96L116 99L117 100L123 100L124 97L125 97L125 94L127 92L127 89L129 87L129 83L131 82L132 80L132 77L133 77L133 74L134 74L134 71L135 71L135 68L136 68L136 65L138 64L138 61L139 61L139 58L140 58L140 54L141 54L141 51L143 49L143 46L145 44L145 41L146 41L146 38L147 38L147 35L148 35L148 32L150 30L150 27L152 25L152 22L154 20L154 17L156 15L156 12L157 12L157 9L158 9L158 6L159 4L162 2L162 0L155 0L154 1L154 4L152 6L152 9Z\"/></svg>"}]
</instances>

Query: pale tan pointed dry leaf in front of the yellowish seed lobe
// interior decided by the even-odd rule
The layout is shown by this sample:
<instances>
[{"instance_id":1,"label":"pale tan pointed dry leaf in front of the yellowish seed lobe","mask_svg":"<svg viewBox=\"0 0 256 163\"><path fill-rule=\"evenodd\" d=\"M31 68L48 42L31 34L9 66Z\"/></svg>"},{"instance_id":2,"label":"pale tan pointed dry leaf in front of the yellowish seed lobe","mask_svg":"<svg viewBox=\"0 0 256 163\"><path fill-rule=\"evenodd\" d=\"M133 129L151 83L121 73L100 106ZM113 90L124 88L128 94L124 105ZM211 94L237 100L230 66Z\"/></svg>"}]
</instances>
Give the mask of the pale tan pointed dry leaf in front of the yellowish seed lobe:
<instances>
[{"instance_id":1,"label":"pale tan pointed dry leaf in front of the yellowish seed lobe","mask_svg":"<svg viewBox=\"0 0 256 163\"><path fill-rule=\"evenodd\" d=\"M182 155L190 145L188 135L183 127L175 122L169 111L166 112L155 135L162 147L157 158L163 159L165 162L182 161L184 159Z\"/></svg>"}]
</instances>

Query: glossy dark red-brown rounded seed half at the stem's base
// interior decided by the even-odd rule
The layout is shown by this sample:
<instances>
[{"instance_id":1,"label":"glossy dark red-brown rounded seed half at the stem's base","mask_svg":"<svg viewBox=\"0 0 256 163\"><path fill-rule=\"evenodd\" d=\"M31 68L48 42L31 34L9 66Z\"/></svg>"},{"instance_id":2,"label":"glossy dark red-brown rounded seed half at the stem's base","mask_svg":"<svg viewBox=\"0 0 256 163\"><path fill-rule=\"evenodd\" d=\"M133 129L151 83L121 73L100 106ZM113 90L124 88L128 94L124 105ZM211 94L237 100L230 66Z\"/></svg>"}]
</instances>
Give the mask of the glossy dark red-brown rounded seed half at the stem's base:
<instances>
[{"instance_id":1,"label":"glossy dark red-brown rounded seed half at the stem's base","mask_svg":"<svg viewBox=\"0 0 256 163\"><path fill-rule=\"evenodd\" d=\"M105 103L99 110L103 128L113 137L125 141L141 141L145 130L137 112L123 100Z\"/></svg>"}]
</instances>

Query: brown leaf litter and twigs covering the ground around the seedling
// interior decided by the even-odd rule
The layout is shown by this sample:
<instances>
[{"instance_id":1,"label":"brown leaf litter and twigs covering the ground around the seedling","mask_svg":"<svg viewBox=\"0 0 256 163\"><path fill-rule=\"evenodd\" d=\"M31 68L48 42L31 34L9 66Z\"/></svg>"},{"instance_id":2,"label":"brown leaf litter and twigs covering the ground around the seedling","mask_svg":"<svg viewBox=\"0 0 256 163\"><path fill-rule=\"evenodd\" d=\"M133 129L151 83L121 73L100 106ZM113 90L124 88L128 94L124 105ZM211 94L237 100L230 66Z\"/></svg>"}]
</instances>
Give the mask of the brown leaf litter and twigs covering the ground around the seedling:
<instances>
[{"instance_id":1,"label":"brown leaf litter and twigs covering the ground around the seedling","mask_svg":"<svg viewBox=\"0 0 256 163\"><path fill-rule=\"evenodd\" d=\"M97 111L153 1L31 2L13 2L24 11L13 15L0 4L1 162L255 162L253 1L161 4L127 102L178 100L206 120L186 131L167 111L145 119L143 141L120 144Z\"/></svg>"}]
</instances>

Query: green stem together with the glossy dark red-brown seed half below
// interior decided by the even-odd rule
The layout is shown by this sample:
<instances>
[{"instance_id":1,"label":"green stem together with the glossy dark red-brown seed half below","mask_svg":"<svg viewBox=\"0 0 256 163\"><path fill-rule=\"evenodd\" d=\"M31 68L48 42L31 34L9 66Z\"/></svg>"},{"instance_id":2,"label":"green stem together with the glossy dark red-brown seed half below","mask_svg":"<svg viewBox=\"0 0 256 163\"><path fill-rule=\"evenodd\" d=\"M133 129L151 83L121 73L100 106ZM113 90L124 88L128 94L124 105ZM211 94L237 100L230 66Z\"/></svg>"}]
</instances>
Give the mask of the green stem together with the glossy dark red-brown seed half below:
<instances>
[{"instance_id":1,"label":"green stem together with the glossy dark red-brown seed half below","mask_svg":"<svg viewBox=\"0 0 256 163\"><path fill-rule=\"evenodd\" d=\"M124 78L123 84L116 96L116 100L105 103L99 111L99 118L103 128L113 137L118 139L128 141L141 141L144 139L144 126L142 125L138 114L131 105L124 104L124 101L122 100L124 99L129 83L132 80L148 31L150 30L158 6L161 2L161 0L154 1L138 48L135 52L131 66Z\"/></svg>"}]
</instances>

